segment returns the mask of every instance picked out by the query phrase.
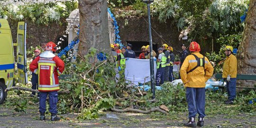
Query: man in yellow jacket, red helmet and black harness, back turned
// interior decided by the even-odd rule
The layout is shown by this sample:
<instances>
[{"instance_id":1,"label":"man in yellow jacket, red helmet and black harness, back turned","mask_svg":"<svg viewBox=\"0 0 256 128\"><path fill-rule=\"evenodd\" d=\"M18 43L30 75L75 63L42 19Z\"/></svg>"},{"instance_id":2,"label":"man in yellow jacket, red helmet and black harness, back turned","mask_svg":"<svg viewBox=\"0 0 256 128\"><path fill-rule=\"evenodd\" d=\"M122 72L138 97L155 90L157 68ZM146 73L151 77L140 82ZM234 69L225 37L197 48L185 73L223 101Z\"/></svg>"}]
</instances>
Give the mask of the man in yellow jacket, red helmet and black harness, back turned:
<instances>
[{"instance_id":1,"label":"man in yellow jacket, red helmet and black harness, back turned","mask_svg":"<svg viewBox=\"0 0 256 128\"><path fill-rule=\"evenodd\" d=\"M186 87L186 100L188 103L189 122L186 127L195 128L195 116L198 113L197 126L203 127L205 115L205 82L212 76L213 67L209 60L201 55L198 43L191 42L188 55L181 67L181 79Z\"/></svg>"}]
</instances>

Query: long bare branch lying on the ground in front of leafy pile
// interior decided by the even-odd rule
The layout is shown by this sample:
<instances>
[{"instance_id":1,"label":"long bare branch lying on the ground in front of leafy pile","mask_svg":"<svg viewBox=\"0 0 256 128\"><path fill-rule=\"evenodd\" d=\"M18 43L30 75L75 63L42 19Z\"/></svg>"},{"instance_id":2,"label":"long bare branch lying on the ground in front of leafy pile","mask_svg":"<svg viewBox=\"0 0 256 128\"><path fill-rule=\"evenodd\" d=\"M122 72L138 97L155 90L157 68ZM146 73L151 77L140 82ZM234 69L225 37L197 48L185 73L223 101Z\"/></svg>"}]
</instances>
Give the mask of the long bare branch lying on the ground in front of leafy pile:
<instances>
[{"instance_id":1,"label":"long bare branch lying on the ground in front of leafy pile","mask_svg":"<svg viewBox=\"0 0 256 128\"><path fill-rule=\"evenodd\" d=\"M138 109L131 109L131 108L126 108L126 109L123 109L123 110L119 110L119 109L116 109L115 107L113 107L111 110L116 111L116 112L128 112L128 111L132 111L132 112L139 112L139 113L144 113L144 114L151 113L151 112L154 112L154 111L159 111L159 112L161 112L161 113L164 113L164 114L168 115L168 112L166 112L166 111L164 111L164 110L161 110L161 109L158 108L158 107L152 108L151 110L138 110Z\"/></svg>"}]
</instances>

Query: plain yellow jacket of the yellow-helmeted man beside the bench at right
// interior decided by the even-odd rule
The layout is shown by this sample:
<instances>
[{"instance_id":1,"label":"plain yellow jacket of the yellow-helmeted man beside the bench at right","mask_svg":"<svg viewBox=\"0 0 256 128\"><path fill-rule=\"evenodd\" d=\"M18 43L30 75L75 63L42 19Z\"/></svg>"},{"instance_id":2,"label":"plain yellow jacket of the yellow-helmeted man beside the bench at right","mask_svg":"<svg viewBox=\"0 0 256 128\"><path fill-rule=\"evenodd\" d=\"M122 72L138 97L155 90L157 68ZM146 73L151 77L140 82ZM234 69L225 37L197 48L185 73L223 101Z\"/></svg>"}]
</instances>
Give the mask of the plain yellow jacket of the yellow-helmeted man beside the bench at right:
<instances>
[{"instance_id":1,"label":"plain yellow jacket of the yellow-helmeted man beside the bench at right","mask_svg":"<svg viewBox=\"0 0 256 128\"><path fill-rule=\"evenodd\" d=\"M227 78L230 75L231 78L237 78L237 57L233 54L229 55L223 65L222 77Z\"/></svg>"}]
</instances>

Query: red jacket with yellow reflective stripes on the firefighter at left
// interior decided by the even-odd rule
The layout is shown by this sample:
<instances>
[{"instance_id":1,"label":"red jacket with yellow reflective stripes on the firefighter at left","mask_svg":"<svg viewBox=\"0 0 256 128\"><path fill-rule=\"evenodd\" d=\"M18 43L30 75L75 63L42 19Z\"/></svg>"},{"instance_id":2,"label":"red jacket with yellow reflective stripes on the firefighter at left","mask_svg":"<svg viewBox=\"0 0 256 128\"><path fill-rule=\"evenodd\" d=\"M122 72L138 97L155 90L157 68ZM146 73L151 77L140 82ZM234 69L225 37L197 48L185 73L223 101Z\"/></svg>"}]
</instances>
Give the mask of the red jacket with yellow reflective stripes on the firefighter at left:
<instances>
[{"instance_id":1,"label":"red jacket with yellow reflective stripes on the firefighter at left","mask_svg":"<svg viewBox=\"0 0 256 128\"><path fill-rule=\"evenodd\" d=\"M64 71L64 62L58 57L37 57L29 65L33 72L38 68L38 91L59 91L58 75Z\"/></svg>"}]
</instances>

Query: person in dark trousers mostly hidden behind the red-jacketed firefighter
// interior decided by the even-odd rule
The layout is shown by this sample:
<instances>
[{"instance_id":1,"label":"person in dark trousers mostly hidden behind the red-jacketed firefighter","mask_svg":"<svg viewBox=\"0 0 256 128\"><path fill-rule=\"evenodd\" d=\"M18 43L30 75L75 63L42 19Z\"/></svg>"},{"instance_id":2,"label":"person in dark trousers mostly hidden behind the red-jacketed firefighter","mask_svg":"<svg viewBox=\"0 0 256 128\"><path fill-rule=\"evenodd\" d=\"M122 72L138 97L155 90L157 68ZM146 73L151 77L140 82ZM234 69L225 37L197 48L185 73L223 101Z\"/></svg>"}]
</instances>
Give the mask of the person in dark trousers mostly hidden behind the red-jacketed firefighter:
<instances>
[{"instance_id":1,"label":"person in dark trousers mostly hidden behind the red-jacketed firefighter","mask_svg":"<svg viewBox=\"0 0 256 128\"><path fill-rule=\"evenodd\" d=\"M35 58L33 60L35 60L37 58L37 56L40 54L41 54L41 51L39 49L36 49L34 51ZM37 90L38 89L38 75L36 73L32 72L31 83L32 83L31 89ZM36 92L32 92L30 97L33 97L35 95L36 95ZM37 97L39 97L39 93L37 93Z\"/></svg>"}]
</instances>

